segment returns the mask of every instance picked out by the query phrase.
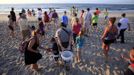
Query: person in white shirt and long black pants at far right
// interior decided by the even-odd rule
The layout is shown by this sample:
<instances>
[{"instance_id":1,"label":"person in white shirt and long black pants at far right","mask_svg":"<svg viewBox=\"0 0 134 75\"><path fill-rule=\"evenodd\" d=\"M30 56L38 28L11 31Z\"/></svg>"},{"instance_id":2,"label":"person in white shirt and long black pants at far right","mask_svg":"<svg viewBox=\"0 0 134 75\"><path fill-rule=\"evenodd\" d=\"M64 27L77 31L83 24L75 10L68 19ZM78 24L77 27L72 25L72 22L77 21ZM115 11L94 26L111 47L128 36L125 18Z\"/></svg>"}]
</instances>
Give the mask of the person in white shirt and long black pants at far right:
<instances>
[{"instance_id":1,"label":"person in white shirt and long black pants at far right","mask_svg":"<svg viewBox=\"0 0 134 75\"><path fill-rule=\"evenodd\" d=\"M121 37L121 43L125 43L124 32L126 31L126 29L130 30L129 19L126 18L125 13L122 14L122 18L120 19L119 23L121 25L118 28L119 29L119 35L118 35L117 39L119 39Z\"/></svg>"}]
</instances>

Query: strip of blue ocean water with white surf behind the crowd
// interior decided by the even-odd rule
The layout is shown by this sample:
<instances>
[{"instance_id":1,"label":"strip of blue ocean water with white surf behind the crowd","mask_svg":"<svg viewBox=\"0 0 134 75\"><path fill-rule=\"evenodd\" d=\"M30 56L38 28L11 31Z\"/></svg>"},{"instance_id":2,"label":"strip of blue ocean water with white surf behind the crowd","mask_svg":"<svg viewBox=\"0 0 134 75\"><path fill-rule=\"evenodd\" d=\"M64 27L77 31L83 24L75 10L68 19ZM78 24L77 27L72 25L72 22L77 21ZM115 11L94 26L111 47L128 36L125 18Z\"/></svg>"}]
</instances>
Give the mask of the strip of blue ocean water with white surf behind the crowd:
<instances>
[{"instance_id":1,"label":"strip of blue ocean water with white surf behind the crowd","mask_svg":"<svg viewBox=\"0 0 134 75\"><path fill-rule=\"evenodd\" d=\"M34 9L42 8L43 10L48 10L49 8L55 8L58 12L64 10L70 10L72 6L78 8L78 10L90 8L94 10L95 8L99 8L103 10L104 8L108 8L112 11L117 10L134 10L134 4L0 4L0 13L6 13L10 11L11 7L15 8L15 11L21 11L24 9Z\"/></svg>"}]
</instances>

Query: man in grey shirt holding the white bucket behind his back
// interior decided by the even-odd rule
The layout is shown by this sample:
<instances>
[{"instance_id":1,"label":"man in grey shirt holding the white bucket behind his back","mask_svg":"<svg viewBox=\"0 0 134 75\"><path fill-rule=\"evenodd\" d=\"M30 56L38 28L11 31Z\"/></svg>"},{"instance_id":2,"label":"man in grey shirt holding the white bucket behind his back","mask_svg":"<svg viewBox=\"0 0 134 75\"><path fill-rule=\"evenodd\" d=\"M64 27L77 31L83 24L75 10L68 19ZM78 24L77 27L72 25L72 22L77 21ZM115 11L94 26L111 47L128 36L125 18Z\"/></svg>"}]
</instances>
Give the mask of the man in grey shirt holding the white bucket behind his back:
<instances>
[{"instance_id":1,"label":"man in grey shirt holding the white bucket behind his back","mask_svg":"<svg viewBox=\"0 0 134 75\"><path fill-rule=\"evenodd\" d=\"M61 27L55 33L55 38L59 45L59 50L67 50L72 44L72 31L66 28L64 23L61 23Z\"/></svg>"}]
</instances>

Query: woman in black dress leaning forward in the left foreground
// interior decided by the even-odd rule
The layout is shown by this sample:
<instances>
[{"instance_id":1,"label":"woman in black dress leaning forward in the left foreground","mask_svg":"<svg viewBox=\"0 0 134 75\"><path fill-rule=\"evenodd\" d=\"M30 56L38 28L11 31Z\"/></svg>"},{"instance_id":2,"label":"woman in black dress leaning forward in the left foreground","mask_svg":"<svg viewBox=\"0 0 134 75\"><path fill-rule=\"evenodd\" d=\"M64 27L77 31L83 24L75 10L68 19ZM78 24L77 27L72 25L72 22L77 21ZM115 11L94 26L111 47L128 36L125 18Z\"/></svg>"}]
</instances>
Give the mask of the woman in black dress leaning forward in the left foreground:
<instances>
[{"instance_id":1,"label":"woman in black dress leaning forward in the left foreground","mask_svg":"<svg viewBox=\"0 0 134 75\"><path fill-rule=\"evenodd\" d=\"M25 64L31 65L32 70L39 70L37 61L42 58L42 55L37 50L37 48L39 47L39 37L40 37L40 31L35 30L32 33L32 37L30 38L28 47L24 53Z\"/></svg>"}]
</instances>

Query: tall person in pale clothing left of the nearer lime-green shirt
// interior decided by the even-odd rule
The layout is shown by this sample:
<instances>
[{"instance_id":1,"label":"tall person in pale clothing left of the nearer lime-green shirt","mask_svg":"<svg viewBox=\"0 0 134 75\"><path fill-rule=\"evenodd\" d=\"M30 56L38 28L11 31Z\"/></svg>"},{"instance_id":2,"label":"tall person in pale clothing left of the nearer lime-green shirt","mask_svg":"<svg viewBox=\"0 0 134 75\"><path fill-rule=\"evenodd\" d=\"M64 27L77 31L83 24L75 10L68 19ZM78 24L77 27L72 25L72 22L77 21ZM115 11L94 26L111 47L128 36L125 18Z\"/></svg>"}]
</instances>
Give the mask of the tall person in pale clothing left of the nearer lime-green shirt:
<instances>
[{"instance_id":1,"label":"tall person in pale clothing left of the nearer lime-green shirt","mask_svg":"<svg viewBox=\"0 0 134 75\"><path fill-rule=\"evenodd\" d=\"M89 34L89 28L91 26L91 23L92 23L92 14L90 12L90 8L87 8L87 13L84 18L84 30L86 35Z\"/></svg>"}]
</instances>

